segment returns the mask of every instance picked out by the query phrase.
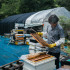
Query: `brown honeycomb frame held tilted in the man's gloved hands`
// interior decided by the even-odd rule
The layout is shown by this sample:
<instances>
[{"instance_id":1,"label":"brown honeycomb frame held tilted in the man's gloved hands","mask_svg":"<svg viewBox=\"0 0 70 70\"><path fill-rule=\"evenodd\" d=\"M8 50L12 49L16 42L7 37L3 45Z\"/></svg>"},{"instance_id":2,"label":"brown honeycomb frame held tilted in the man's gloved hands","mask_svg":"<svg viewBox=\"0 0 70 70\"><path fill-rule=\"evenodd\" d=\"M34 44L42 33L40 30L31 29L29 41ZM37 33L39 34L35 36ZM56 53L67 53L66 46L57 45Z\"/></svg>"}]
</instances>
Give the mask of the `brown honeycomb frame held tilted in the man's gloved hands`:
<instances>
[{"instance_id":1,"label":"brown honeycomb frame held tilted in the man's gloved hands","mask_svg":"<svg viewBox=\"0 0 70 70\"><path fill-rule=\"evenodd\" d=\"M43 47L45 47L45 46L49 47L49 44L48 44L46 41L44 41L44 40L42 39L42 37L40 37L38 34L32 33L31 36L32 36L37 42L39 42Z\"/></svg>"}]
</instances>

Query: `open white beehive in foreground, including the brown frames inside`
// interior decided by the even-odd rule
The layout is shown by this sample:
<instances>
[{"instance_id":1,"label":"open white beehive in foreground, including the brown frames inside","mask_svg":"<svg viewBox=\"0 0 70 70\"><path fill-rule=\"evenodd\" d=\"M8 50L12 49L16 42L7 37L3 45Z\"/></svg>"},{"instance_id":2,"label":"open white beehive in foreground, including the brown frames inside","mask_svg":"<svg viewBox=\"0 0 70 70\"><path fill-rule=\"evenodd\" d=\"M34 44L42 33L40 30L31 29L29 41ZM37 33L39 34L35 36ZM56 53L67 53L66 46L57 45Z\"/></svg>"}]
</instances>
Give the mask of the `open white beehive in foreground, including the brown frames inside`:
<instances>
[{"instance_id":1,"label":"open white beehive in foreground, including the brown frames inside","mask_svg":"<svg viewBox=\"0 0 70 70\"><path fill-rule=\"evenodd\" d=\"M24 70L54 70L55 57L48 54L36 54L31 59L24 59Z\"/></svg>"}]
</instances>

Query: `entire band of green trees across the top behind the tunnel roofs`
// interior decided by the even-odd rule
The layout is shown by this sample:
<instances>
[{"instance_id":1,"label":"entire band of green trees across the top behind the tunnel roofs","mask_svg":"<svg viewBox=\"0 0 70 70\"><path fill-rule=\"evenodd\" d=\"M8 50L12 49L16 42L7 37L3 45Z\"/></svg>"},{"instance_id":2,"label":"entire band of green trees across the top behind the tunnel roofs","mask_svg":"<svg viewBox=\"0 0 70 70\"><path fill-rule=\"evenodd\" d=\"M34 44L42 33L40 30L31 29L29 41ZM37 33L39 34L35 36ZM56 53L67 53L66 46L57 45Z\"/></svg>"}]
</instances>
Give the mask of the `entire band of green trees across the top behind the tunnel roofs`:
<instances>
[{"instance_id":1,"label":"entire band of green trees across the top behind the tunnel roofs","mask_svg":"<svg viewBox=\"0 0 70 70\"><path fill-rule=\"evenodd\" d=\"M70 11L70 0L0 0L0 20L11 15L55 7L65 7Z\"/></svg>"}]
</instances>

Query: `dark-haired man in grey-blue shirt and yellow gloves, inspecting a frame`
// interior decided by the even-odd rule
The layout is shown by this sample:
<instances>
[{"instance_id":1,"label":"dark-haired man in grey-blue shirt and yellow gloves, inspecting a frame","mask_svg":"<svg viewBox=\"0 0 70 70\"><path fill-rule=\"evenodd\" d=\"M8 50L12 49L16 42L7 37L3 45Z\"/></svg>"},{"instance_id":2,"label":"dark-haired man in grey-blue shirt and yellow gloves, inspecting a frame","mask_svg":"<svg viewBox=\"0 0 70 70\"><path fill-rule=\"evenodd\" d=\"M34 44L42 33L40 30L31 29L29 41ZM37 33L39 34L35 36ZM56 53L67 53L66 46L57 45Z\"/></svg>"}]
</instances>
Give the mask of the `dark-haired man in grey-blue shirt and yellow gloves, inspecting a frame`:
<instances>
[{"instance_id":1,"label":"dark-haired man in grey-blue shirt and yellow gloves, inspecting a frame","mask_svg":"<svg viewBox=\"0 0 70 70\"><path fill-rule=\"evenodd\" d=\"M60 45L65 42L65 36L62 26L58 23L59 18L54 14L48 18L49 25L47 26L44 36L47 36L48 54L56 57L55 65L56 69L59 68L59 57L60 57Z\"/></svg>"}]
</instances>

